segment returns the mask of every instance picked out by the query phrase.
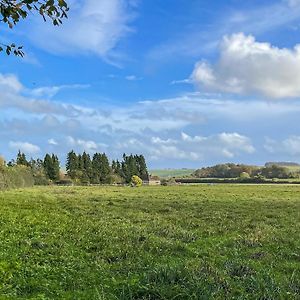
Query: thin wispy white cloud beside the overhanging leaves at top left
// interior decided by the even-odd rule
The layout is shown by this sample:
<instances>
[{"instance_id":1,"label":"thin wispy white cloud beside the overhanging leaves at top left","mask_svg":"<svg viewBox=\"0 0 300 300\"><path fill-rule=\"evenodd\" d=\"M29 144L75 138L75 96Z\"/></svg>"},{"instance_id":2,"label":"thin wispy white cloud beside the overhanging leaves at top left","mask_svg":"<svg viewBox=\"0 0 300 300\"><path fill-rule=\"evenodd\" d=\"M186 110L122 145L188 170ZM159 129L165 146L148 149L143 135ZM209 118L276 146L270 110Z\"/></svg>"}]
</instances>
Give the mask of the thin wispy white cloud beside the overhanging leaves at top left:
<instances>
[{"instance_id":1,"label":"thin wispy white cloud beside the overhanging leaves at top left","mask_svg":"<svg viewBox=\"0 0 300 300\"><path fill-rule=\"evenodd\" d=\"M29 38L39 47L64 55L96 54L113 58L111 51L132 28L134 6L128 0L69 1L68 19L53 29L52 24L40 26L40 18L30 27ZM45 36L47 38L45 39Z\"/></svg>"}]
</instances>

